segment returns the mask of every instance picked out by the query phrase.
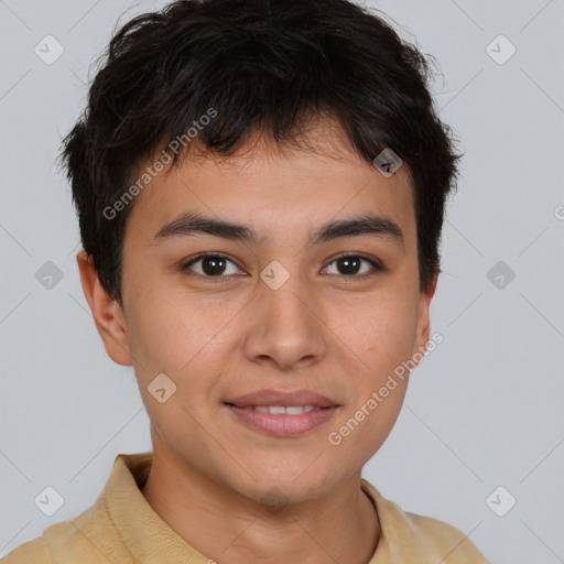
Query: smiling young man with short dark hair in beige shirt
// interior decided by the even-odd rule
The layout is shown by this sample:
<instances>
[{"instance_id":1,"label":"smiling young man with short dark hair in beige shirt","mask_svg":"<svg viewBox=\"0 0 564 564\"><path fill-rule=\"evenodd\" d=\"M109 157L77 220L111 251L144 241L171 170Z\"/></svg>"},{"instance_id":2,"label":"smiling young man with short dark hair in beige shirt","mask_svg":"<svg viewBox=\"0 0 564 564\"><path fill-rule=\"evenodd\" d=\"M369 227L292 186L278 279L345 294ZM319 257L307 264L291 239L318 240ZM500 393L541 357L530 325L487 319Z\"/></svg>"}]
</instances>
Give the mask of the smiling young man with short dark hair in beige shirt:
<instances>
[{"instance_id":1,"label":"smiling young man with short dark hair in beige shirt","mask_svg":"<svg viewBox=\"0 0 564 564\"><path fill-rule=\"evenodd\" d=\"M63 156L153 452L7 564L486 562L361 478L431 343L459 155L427 72L346 0L181 0L117 33Z\"/></svg>"}]
</instances>

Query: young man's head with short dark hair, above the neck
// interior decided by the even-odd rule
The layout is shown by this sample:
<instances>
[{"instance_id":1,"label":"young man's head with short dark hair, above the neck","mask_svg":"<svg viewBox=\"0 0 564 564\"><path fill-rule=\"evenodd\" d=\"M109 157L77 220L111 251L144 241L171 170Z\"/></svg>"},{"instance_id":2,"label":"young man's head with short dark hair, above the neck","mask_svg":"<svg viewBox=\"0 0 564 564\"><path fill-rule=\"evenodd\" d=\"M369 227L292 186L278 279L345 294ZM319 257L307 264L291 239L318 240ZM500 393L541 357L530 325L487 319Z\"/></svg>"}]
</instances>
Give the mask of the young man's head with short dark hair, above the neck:
<instances>
[{"instance_id":1,"label":"young man's head with short dark hair, above the neck","mask_svg":"<svg viewBox=\"0 0 564 564\"><path fill-rule=\"evenodd\" d=\"M155 452L297 501L383 443L408 377L346 441L328 436L430 338L460 156L430 76L345 0L184 0L115 34L62 156L85 294L109 356L134 367ZM391 176L373 164L384 149ZM226 409L261 389L337 409L308 433L261 434Z\"/></svg>"}]
</instances>

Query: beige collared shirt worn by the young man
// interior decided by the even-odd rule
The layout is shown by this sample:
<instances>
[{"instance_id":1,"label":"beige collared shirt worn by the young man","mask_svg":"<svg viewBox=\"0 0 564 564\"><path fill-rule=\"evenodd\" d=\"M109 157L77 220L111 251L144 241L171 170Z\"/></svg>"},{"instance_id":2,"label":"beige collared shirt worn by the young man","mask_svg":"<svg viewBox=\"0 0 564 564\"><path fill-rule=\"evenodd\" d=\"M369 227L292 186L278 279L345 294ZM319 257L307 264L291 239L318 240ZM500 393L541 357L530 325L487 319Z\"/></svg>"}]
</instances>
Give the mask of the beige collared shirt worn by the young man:
<instances>
[{"instance_id":1,"label":"beige collared shirt worn by the young man","mask_svg":"<svg viewBox=\"0 0 564 564\"><path fill-rule=\"evenodd\" d=\"M209 564L151 508L139 489L152 453L120 454L89 509L54 523L12 552L2 564ZM466 536L437 519L403 512L368 481L381 536L367 564L489 564ZM223 563L218 563L223 564ZM343 563L347 564L347 563Z\"/></svg>"}]
</instances>

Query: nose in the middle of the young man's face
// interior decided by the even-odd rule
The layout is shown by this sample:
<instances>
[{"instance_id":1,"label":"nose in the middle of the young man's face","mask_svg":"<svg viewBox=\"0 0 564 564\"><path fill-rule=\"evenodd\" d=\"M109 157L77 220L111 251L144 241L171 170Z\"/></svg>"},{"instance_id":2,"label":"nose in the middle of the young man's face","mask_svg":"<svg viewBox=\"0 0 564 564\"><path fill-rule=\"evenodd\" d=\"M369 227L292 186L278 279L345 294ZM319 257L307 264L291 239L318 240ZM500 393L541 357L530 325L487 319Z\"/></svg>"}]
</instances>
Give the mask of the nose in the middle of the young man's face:
<instances>
[{"instance_id":1,"label":"nose in the middle of the young man's face","mask_svg":"<svg viewBox=\"0 0 564 564\"><path fill-rule=\"evenodd\" d=\"M276 290L262 280L248 315L245 354L253 362L293 370L318 362L327 351L329 330L314 289L297 274Z\"/></svg>"}]
</instances>

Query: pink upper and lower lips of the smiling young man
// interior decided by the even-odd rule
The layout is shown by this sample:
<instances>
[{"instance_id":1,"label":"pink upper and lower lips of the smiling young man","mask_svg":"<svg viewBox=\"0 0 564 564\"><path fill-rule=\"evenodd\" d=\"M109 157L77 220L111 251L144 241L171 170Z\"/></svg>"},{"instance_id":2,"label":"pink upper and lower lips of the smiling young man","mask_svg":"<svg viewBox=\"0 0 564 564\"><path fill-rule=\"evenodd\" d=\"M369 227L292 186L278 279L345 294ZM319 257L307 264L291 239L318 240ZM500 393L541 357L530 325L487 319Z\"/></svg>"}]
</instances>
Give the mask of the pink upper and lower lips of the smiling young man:
<instances>
[{"instance_id":1,"label":"pink upper and lower lips of the smiling young man","mask_svg":"<svg viewBox=\"0 0 564 564\"><path fill-rule=\"evenodd\" d=\"M246 426L276 436L303 435L328 422L339 409L333 400L311 390L282 392L278 390L258 390L239 395L224 405ZM290 415L285 413L263 413L254 406L265 405L312 405L316 410Z\"/></svg>"}]
</instances>

